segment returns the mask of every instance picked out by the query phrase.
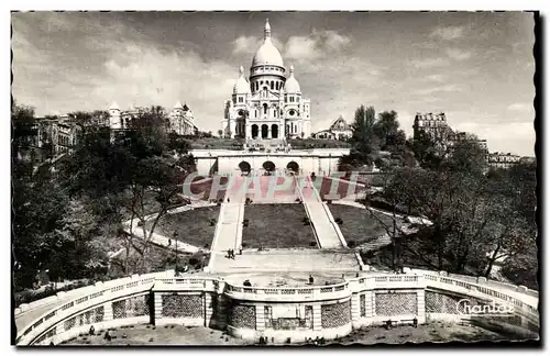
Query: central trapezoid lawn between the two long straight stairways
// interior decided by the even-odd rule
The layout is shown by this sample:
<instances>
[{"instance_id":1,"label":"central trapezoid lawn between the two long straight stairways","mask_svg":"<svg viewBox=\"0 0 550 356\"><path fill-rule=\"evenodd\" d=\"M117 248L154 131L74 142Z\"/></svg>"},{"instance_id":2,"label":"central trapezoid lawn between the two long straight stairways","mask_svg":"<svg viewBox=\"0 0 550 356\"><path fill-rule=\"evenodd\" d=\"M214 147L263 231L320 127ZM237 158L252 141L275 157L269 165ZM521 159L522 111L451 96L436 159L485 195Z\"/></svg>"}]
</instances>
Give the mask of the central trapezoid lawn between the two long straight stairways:
<instances>
[{"instance_id":1,"label":"central trapezoid lawn between the two long straight stairways","mask_svg":"<svg viewBox=\"0 0 550 356\"><path fill-rule=\"evenodd\" d=\"M302 204L251 204L244 208L244 248L317 248L314 231L304 224L307 216ZM315 246L310 246L315 243Z\"/></svg>"}]
</instances>

